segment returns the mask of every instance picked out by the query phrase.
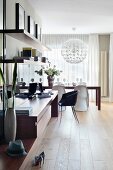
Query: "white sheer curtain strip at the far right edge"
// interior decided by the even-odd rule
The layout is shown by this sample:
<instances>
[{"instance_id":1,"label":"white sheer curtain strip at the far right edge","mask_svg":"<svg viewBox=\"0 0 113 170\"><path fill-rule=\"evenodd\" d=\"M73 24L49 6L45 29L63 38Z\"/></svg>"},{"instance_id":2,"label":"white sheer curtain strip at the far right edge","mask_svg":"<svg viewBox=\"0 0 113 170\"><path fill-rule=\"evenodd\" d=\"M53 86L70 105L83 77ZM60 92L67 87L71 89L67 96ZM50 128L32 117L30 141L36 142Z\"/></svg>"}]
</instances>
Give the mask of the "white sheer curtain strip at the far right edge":
<instances>
[{"instance_id":1,"label":"white sheer curtain strip at the far right edge","mask_svg":"<svg viewBox=\"0 0 113 170\"><path fill-rule=\"evenodd\" d=\"M109 52L109 101L113 102L113 33L110 34Z\"/></svg>"}]
</instances>

